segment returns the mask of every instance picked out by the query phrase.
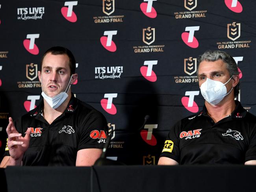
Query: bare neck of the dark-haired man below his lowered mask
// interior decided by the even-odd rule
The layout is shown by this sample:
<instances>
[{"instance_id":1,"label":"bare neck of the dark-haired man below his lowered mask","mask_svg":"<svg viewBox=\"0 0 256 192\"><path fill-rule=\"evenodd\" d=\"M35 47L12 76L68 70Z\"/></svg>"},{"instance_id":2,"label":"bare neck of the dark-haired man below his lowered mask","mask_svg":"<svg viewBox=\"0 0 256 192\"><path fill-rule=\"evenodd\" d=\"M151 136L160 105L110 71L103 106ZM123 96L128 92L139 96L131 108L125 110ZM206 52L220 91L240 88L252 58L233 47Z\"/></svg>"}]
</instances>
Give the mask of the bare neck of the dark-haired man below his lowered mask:
<instances>
[{"instance_id":1,"label":"bare neck of the dark-haired man below his lowered mask","mask_svg":"<svg viewBox=\"0 0 256 192\"><path fill-rule=\"evenodd\" d=\"M64 111L66 110L67 105L68 105L68 103L70 101L70 98L71 98L71 91L70 90L68 92L68 95L69 95L68 98L56 109L53 109L52 107L50 107L50 105L44 99L43 116L49 124L52 124L52 122L58 116L60 116L62 113L64 113Z\"/></svg>"}]
</instances>

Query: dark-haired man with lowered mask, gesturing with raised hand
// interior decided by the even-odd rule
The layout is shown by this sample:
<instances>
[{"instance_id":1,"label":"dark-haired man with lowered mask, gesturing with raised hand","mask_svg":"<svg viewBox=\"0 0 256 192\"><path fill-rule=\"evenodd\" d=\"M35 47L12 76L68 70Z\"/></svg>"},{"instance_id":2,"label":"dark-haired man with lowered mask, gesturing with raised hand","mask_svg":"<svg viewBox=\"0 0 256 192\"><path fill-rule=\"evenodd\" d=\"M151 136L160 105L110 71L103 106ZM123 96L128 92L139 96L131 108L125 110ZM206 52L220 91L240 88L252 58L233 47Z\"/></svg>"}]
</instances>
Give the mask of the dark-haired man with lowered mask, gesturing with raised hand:
<instances>
[{"instance_id":1,"label":"dark-haired man with lowered mask, gesturing with raised hand","mask_svg":"<svg viewBox=\"0 0 256 192\"><path fill-rule=\"evenodd\" d=\"M1 167L91 166L100 157L107 122L71 93L70 85L78 78L75 68L67 48L52 47L45 52L38 71L43 101L17 121L9 118L8 148Z\"/></svg>"}]
</instances>

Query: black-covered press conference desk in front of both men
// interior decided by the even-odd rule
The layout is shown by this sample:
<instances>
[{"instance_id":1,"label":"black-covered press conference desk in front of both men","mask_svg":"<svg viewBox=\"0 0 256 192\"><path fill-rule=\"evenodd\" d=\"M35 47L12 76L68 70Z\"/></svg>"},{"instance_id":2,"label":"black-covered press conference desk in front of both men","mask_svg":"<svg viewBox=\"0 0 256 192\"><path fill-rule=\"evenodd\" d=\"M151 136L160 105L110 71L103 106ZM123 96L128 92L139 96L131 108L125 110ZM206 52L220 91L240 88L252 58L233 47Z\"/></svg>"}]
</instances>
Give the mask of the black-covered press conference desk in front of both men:
<instances>
[{"instance_id":1,"label":"black-covered press conference desk in front of both men","mask_svg":"<svg viewBox=\"0 0 256 192\"><path fill-rule=\"evenodd\" d=\"M7 167L8 192L256 191L256 166Z\"/></svg>"}]
</instances>

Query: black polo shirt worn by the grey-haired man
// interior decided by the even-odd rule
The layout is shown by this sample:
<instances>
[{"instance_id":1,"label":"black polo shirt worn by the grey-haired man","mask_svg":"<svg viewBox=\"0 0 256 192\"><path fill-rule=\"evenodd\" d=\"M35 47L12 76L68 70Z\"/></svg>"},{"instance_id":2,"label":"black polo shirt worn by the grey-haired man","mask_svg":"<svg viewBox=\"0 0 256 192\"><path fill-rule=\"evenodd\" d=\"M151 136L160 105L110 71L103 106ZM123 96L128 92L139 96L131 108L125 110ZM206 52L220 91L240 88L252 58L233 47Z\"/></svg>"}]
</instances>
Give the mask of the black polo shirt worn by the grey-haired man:
<instances>
[{"instance_id":1,"label":"black polo shirt worn by the grey-haired man","mask_svg":"<svg viewBox=\"0 0 256 192\"><path fill-rule=\"evenodd\" d=\"M177 122L161 157L179 164L244 164L256 160L256 116L236 101L233 113L214 123L206 107Z\"/></svg>"}]
</instances>

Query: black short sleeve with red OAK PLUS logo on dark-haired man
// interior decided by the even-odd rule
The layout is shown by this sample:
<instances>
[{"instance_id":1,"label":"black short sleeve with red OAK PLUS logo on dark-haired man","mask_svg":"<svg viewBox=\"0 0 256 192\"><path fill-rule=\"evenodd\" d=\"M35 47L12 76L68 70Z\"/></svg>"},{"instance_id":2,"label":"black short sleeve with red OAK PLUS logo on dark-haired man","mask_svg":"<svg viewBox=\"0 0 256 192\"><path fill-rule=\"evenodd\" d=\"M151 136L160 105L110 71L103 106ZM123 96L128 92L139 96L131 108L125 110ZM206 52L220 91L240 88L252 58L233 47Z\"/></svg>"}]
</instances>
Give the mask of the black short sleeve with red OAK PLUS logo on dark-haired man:
<instances>
[{"instance_id":1,"label":"black short sleeve with red OAK PLUS logo on dark-haired man","mask_svg":"<svg viewBox=\"0 0 256 192\"><path fill-rule=\"evenodd\" d=\"M99 111L91 111L80 124L78 150L103 148L108 136L106 118Z\"/></svg>"}]
</instances>

